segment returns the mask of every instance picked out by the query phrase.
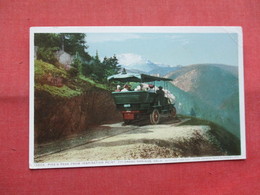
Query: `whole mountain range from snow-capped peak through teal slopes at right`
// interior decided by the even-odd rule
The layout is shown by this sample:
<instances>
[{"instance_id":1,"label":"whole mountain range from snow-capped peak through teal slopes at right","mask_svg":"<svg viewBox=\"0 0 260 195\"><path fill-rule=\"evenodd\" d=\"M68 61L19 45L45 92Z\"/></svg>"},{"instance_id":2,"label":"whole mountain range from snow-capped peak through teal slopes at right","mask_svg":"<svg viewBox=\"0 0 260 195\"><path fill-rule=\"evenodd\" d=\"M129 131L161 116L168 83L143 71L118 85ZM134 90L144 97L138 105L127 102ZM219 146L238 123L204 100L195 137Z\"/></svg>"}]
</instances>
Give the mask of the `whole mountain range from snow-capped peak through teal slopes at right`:
<instances>
[{"instance_id":1,"label":"whole mountain range from snow-capped peak through teal slopes at right","mask_svg":"<svg viewBox=\"0 0 260 195\"><path fill-rule=\"evenodd\" d=\"M117 58L127 72L173 79L168 89L176 97L179 114L213 121L240 137L238 67L157 64L136 54L121 54Z\"/></svg>"}]
</instances>

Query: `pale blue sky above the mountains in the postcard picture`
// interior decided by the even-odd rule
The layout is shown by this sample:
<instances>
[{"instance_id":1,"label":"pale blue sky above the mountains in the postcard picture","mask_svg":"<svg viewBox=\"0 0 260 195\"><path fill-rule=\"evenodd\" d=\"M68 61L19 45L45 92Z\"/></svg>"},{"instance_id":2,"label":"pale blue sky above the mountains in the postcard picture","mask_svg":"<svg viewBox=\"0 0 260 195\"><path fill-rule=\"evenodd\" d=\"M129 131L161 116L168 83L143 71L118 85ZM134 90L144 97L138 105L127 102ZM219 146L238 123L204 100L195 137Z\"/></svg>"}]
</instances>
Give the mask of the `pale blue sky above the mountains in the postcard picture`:
<instances>
[{"instance_id":1,"label":"pale blue sky above the mountains in the postcard picture","mask_svg":"<svg viewBox=\"0 0 260 195\"><path fill-rule=\"evenodd\" d=\"M87 33L90 55L142 56L154 63L238 65L236 33Z\"/></svg>"}]
</instances>

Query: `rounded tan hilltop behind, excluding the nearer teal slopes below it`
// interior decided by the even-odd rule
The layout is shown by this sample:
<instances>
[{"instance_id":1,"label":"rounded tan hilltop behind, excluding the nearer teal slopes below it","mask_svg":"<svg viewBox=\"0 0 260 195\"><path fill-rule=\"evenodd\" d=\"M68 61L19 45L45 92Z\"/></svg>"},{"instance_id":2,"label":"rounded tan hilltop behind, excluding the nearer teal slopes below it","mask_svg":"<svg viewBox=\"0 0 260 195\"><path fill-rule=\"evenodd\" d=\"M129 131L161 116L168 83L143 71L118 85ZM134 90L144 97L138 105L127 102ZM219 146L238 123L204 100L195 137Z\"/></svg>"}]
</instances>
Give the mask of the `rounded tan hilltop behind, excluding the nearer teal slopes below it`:
<instances>
[{"instance_id":1,"label":"rounded tan hilltop behind, excluding the nearer teal slopes below it","mask_svg":"<svg viewBox=\"0 0 260 195\"><path fill-rule=\"evenodd\" d=\"M192 65L167 77L174 79L172 84L175 86L213 106L219 106L238 90L237 76L223 65Z\"/></svg>"}]
</instances>

